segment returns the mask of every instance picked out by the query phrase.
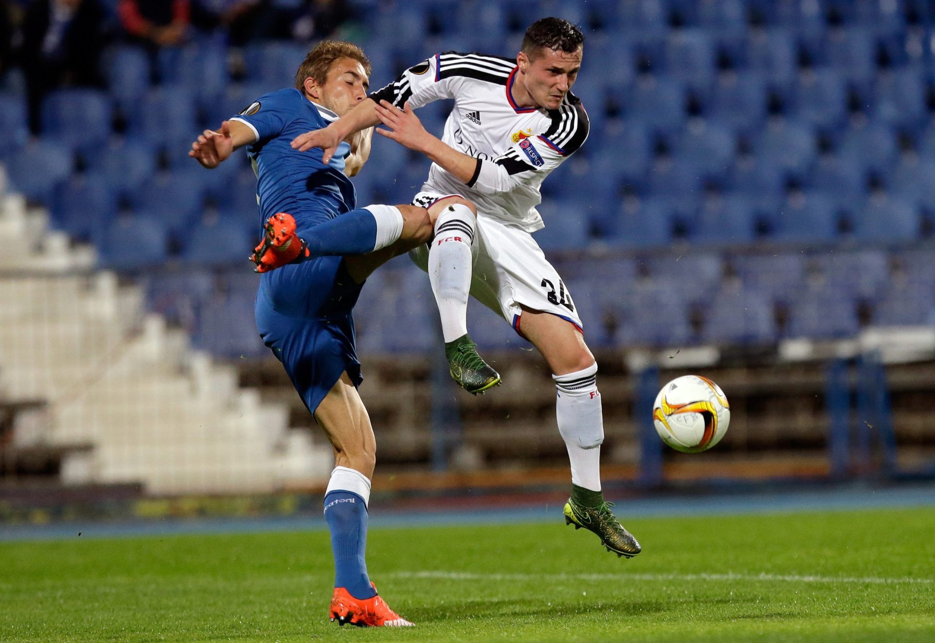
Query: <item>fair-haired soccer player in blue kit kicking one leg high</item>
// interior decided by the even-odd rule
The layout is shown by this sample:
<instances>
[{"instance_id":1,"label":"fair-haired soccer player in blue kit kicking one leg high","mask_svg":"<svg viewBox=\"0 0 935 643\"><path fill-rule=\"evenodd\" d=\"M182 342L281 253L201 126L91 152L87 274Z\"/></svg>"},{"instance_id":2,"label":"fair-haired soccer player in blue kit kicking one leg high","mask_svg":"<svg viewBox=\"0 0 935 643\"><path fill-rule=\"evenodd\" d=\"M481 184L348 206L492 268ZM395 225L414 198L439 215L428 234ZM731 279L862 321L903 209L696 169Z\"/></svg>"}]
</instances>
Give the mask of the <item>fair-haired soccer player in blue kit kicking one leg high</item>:
<instances>
[{"instance_id":1,"label":"fair-haired soccer player in blue kit kicking one leg high","mask_svg":"<svg viewBox=\"0 0 935 643\"><path fill-rule=\"evenodd\" d=\"M331 618L406 626L411 623L382 601L367 577L376 440L357 394L362 378L352 308L367 275L381 263L430 241L439 215L473 216L474 207L451 197L427 208L356 208L348 175L367 161L372 130L342 142L327 163L321 154L290 147L299 133L326 127L365 100L369 72L361 49L325 41L300 65L295 89L260 96L220 130L202 133L189 155L213 168L237 147L247 147L258 178L267 232L254 255L262 273L257 328L335 450L324 496L336 570Z\"/></svg>"}]
</instances>

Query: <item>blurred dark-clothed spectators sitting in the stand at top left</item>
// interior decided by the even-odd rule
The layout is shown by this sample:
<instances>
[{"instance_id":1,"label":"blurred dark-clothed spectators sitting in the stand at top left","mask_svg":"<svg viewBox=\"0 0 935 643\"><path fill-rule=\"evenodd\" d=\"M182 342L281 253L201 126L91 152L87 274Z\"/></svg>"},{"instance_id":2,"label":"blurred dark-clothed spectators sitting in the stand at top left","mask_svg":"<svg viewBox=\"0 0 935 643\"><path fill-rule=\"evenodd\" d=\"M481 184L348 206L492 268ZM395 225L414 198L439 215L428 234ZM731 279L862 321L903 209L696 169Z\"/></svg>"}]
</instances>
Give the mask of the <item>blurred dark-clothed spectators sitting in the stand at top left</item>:
<instances>
[{"instance_id":1,"label":"blurred dark-clothed spectators sitting in the stand at top left","mask_svg":"<svg viewBox=\"0 0 935 643\"><path fill-rule=\"evenodd\" d=\"M22 70L29 126L38 134L50 91L104 86L108 45L137 45L154 61L159 49L223 38L232 52L227 71L236 79L239 48L339 35L350 15L345 0L0 0L0 88L11 69ZM155 84L158 69L151 64Z\"/></svg>"}]
</instances>

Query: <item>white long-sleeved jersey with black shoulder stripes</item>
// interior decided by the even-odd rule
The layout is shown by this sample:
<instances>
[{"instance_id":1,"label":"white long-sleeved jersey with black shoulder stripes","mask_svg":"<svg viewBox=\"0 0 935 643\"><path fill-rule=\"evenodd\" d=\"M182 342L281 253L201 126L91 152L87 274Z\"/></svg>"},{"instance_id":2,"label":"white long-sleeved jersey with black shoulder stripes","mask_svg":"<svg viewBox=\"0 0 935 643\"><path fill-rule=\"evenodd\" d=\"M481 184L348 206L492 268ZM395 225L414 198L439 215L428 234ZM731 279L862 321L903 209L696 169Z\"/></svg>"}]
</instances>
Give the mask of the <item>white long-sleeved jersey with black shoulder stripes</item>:
<instances>
[{"instance_id":1,"label":"white long-sleeved jersey with black shoulder stripes","mask_svg":"<svg viewBox=\"0 0 935 643\"><path fill-rule=\"evenodd\" d=\"M449 51L410 67L370 97L398 107L408 101L413 109L453 98L441 140L476 158L477 169L466 185L432 163L424 189L460 194L478 212L532 232L544 225L536 209L539 186L582 147L589 123L571 92L555 110L518 107L511 95L516 72L509 58Z\"/></svg>"}]
</instances>

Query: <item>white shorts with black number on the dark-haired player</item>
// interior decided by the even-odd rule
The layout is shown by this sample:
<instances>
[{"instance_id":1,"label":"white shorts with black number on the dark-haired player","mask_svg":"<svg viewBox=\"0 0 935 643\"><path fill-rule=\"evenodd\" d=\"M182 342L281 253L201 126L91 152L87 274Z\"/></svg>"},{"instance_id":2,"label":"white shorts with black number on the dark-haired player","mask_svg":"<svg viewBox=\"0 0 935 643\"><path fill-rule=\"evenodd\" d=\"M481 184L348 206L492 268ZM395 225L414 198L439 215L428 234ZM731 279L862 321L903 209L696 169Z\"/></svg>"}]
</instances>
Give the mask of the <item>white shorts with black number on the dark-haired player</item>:
<instances>
[{"instance_id":1,"label":"white shorts with black number on the dark-haired player","mask_svg":"<svg viewBox=\"0 0 935 643\"><path fill-rule=\"evenodd\" d=\"M452 195L419 192L412 203L428 207L446 196ZM427 246L411 250L410 259L428 271ZM521 306L558 315L583 331L582 320L568 287L545 259L532 235L518 226L485 217L482 212L478 212L477 233L474 235L470 294L506 319L517 332L520 332L520 315L523 314Z\"/></svg>"}]
</instances>

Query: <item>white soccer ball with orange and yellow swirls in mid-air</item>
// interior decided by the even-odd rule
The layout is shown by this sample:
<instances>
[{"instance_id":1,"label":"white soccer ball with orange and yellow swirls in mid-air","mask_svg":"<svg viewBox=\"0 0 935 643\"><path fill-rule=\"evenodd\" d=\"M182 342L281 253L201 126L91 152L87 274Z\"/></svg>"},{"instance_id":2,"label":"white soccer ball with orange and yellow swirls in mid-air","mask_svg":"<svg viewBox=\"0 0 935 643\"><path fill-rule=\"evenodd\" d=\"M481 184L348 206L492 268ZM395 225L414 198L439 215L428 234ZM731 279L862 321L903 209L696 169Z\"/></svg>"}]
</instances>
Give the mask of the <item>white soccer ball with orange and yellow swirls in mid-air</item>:
<instances>
[{"instance_id":1,"label":"white soccer ball with orange and yellow swirls in mid-air","mask_svg":"<svg viewBox=\"0 0 935 643\"><path fill-rule=\"evenodd\" d=\"M697 454L724 437L730 405L721 387L707 377L683 375L663 386L655 397L653 424L670 447Z\"/></svg>"}]
</instances>

